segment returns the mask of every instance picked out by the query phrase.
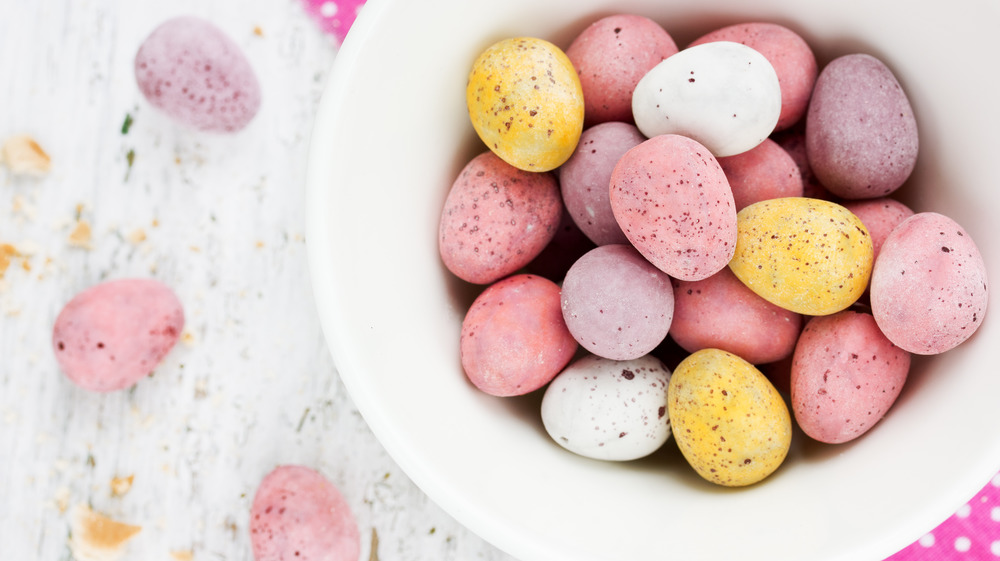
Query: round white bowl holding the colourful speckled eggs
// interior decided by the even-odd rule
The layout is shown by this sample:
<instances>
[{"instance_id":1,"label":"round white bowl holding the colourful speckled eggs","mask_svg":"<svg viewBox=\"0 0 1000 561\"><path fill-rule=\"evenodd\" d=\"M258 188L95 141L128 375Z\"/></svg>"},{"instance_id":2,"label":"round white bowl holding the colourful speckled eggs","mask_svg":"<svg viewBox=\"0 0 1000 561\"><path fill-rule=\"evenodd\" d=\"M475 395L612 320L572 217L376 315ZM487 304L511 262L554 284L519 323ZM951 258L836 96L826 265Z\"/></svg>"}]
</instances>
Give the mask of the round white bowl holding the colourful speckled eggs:
<instances>
[{"instance_id":1,"label":"round white bowl holding the colourful speckled eggs","mask_svg":"<svg viewBox=\"0 0 1000 561\"><path fill-rule=\"evenodd\" d=\"M889 415L840 446L801 433L762 483L701 481L669 442L603 463L551 442L540 397L466 381L459 331L479 290L437 252L449 187L483 148L465 110L475 56L532 35L565 48L596 18L647 15L684 46L715 27L772 21L823 64L867 52L895 72L921 153L898 196L954 218L1000 279L995 159L1000 8L986 1L371 0L337 56L308 169L312 281L330 351L376 437L432 500L522 561L882 559L919 538L1000 467L998 322L915 361ZM349 461L349 460L348 460Z\"/></svg>"}]
</instances>

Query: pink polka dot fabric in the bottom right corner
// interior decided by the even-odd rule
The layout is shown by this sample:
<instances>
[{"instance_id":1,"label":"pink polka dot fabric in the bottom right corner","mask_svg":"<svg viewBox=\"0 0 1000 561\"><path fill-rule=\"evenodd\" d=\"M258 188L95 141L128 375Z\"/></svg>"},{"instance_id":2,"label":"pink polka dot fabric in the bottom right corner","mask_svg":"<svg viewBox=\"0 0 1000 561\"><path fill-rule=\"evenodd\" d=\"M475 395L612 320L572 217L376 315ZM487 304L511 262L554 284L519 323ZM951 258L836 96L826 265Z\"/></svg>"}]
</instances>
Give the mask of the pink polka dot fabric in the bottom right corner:
<instances>
[{"instance_id":1,"label":"pink polka dot fabric in the bottom right corner","mask_svg":"<svg viewBox=\"0 0 1000 561\"><path fill-rule=\"evenodd\" d=\"M1000 560L1000 473L940 526L887 561Z\"/></svg>"}]
</instances>

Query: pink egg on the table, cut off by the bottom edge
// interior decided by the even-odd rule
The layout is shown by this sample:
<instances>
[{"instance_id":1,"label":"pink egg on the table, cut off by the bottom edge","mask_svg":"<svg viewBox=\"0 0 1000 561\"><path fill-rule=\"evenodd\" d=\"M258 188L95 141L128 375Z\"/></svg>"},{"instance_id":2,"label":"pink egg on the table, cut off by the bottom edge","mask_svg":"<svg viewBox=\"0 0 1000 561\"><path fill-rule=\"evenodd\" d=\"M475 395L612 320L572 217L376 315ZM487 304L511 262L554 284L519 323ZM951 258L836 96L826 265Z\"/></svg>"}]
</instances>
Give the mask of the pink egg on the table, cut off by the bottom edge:
<instances>
[{"instance_id":1,"label":"pink egg on the table, cut off by the bottom edge","mask_svg":"<svg viewBox=\"0 0 1000 561\"><path fill-rule=\"evenodd\" d=\"M358 561L361 538L350 506L321 474L284 465L267 474L250 506L255 561Z\"/></svg>"}]
</instances>

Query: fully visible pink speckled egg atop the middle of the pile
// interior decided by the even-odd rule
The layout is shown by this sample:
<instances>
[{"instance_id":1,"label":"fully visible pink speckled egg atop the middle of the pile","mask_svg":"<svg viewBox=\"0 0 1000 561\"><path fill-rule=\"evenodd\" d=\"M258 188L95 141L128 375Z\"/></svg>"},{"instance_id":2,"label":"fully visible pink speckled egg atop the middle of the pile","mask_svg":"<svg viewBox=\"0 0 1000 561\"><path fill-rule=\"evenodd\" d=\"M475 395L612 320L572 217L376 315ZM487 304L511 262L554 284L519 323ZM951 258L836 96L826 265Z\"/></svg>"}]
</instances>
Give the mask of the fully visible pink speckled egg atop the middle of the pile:
<instances>
[{"instance_id":1,"label":"fully visible pink speckled egg atop the middle of the pile","mask_svg":"<svg viewBox=\"0 0 1000 561\"><path fill-rule=\"evenodd\" d=\"M611 174L611 209L625 236L661 271L700 280L736 250L736 203L718 160L688 137L643 142Z\"/></svg>"}]
</instances>

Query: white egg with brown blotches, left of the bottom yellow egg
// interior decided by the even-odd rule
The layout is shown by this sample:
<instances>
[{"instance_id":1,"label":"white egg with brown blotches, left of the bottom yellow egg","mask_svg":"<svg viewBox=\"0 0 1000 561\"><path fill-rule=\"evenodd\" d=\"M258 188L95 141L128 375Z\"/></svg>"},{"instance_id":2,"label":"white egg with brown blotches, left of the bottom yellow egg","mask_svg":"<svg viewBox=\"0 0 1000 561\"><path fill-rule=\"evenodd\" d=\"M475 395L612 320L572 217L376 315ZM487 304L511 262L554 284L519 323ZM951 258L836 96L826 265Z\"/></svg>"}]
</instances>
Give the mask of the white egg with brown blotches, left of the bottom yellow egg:
<instances>
[{"instance_id":1,"label":"white egg with brown blotches, left of the bottom yellow egg","mask_svg":"<svg viewBox=\"0 0 1000 561\"><path fill-rule=\"evenodd\" d=\"M542 398L542 423L560 446L597 460L648 456L670 437L670 370L652 356L585 356L563 370Z\"/></svg>"}]
</instances>

